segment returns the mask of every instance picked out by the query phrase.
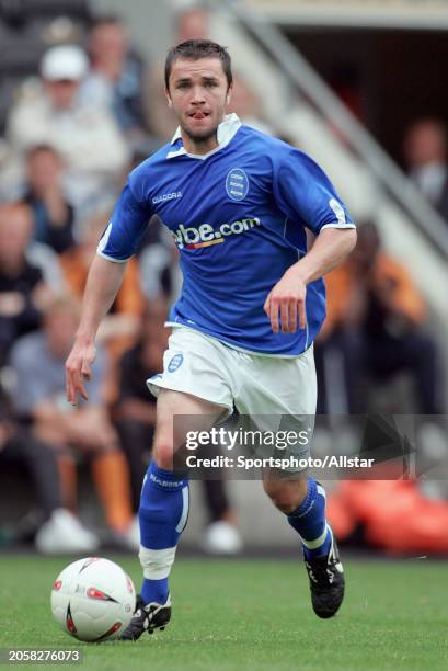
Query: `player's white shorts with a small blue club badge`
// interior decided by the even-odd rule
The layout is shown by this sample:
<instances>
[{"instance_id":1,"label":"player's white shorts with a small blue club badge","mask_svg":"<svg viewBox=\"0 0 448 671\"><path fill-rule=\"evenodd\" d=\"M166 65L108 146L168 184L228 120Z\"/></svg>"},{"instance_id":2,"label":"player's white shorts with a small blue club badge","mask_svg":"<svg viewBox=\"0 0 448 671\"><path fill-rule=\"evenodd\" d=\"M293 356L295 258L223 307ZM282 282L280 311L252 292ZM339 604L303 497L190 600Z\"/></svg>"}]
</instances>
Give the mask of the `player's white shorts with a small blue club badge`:
<instances>
[{"instance_id":1,"label":"player's white shorts with a small blue club badge","mask_svg":"<svg viewBox=\"0 0 448 671\"><path fill-rule=\"evenodd\" d=\"M265 356L179 326L163 355L163 373L149 378L147 385L154 396L162 388L203 398L223 408L225 417L233 408L252 418L268 416L269 427L273 417L295 417L311 440L317 406L312 346L299 356ZM309 444L308 450L300 448L302 456L309 456Z\"/></svg>"}]
</instances>

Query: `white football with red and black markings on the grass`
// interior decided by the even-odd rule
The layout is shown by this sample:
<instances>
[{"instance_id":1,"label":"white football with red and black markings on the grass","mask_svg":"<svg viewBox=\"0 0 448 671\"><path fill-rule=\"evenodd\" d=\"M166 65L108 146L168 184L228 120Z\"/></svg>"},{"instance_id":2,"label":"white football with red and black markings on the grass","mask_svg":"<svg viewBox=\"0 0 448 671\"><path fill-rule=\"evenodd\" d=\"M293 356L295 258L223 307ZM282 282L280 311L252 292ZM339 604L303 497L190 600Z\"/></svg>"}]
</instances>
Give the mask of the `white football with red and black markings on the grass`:
<instances>
[{"instance_id":1,"label":"white football with red and black markings on the grass","mask_svg":"<svg viewBox=\"0 0 448 671\"><path fill-rule=\"evenodd\" d=\"M129 624L135 607L133 581L108 559L78 559L53 583L53 615L65 632L79 640L115 638Z\"/></svg>"}]
</instances>

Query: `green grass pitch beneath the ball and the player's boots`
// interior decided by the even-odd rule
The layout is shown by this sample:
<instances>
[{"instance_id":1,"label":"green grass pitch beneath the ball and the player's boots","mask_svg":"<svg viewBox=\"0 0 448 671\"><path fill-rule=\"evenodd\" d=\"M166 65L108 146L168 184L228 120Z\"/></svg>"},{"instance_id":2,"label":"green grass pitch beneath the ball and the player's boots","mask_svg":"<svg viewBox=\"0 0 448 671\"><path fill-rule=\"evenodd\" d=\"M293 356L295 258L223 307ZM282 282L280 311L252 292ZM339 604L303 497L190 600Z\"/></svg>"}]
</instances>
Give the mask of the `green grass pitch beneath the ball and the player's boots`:
<instances>
[{"instance_id":1,"label":"green grass pitch beneath the ball and the player's boots","mask_svg":"<svg viewBox=\"0 0 448 671\"><path fill-rule=\"evenodd\" d=\"M112 558L138 587L137 559ZM446 562L348 559L343 607L320 621L301 561L179 558L165 632L96 645L80 644L53 621L50 587L68 562L0 558L0 647L82 648L82 666L53 668L89 671L448 669Z\"/></svg>"}]
</instances>

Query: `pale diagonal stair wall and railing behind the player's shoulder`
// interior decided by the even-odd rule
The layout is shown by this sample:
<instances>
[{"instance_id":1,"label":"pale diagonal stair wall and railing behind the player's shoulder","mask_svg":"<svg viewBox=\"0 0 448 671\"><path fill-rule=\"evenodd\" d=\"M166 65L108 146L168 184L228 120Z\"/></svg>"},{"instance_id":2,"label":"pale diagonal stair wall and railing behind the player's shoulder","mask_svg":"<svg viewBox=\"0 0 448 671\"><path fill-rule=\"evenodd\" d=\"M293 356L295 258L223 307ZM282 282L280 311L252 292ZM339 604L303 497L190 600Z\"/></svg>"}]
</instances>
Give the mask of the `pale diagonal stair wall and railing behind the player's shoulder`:
<instances>
[{"instance_id":1,"label":"pale diagonal stair wall and railing behind the player's shoulder","mask_svg":"<svg viewBox=\"0 0 448 671\"><path fill-rule=\"evenodd\" d=\"M229 45L238 67L263 70L263 78L251 81L266 101L268 121L326 168L355 218L375 218L389 250L407 264L418 264L416 282L446 317L439 291L448 281L445 221L278 27L261 13L228 7L216 16L215 34Z\"/></svg>"}]
</instances>

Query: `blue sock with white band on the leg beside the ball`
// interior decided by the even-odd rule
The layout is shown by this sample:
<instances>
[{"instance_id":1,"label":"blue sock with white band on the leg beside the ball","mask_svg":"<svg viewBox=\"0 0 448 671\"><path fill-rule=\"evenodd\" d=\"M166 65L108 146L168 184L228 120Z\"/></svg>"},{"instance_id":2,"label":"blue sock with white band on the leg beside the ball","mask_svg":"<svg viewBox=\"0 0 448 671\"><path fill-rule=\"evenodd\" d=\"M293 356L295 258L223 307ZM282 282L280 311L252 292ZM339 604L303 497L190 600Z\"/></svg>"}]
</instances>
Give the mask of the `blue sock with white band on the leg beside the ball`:
<instances>
[{"instance_id":1,"label":"blue sock with white band on the leg beside the ball","mask_svg":"<svg viewBox=\"0 0 448 671\"><path fill-rule=\"evenodd\" d=\"M152 462L145 477L138 515L145 576L141 596L145 603L165 603L177 542L188 518L187 476L163 470Z\"/></svg>"}]
</instances>

